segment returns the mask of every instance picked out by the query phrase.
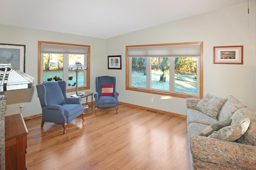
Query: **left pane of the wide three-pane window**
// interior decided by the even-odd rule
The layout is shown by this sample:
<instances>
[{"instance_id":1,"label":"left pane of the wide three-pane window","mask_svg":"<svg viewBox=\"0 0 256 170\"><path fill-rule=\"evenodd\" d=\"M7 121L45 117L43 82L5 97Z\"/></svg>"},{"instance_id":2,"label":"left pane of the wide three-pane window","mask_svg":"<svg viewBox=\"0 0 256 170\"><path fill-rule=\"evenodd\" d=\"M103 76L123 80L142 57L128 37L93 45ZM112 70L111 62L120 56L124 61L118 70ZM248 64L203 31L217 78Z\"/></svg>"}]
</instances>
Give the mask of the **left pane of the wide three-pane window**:
<instances>
[{"instance_id":1,"label":"left pane of the wide three-pane window","mask_svg":"<svg viewBox=\"0 0 256 170\"><path fill-rule=\"evenodd\" d=\"M131 85L146 87L146 57L132 57Z\"/></svg>"}]
</instances>

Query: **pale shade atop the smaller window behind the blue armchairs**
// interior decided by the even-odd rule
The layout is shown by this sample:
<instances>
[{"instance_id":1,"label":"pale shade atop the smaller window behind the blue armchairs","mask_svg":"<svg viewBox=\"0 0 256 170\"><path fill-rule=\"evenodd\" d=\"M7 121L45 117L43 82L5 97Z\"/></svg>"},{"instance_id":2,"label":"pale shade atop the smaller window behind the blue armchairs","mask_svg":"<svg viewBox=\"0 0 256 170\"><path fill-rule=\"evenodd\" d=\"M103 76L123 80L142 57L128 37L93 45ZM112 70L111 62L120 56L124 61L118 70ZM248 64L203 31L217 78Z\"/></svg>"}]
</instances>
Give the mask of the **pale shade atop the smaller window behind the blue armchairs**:
<instances>
[{"instance_id":1,"label":"pale shade atop the smaller window behind the blue armchairs","mask_svg":"<svg viewBox=\"0 0 256 170\"><path fill-rule=\"evenodd\" d=\"M41 53L88 54L89 47L72 45L41 44Z\"/></svg>"}]
</instances>

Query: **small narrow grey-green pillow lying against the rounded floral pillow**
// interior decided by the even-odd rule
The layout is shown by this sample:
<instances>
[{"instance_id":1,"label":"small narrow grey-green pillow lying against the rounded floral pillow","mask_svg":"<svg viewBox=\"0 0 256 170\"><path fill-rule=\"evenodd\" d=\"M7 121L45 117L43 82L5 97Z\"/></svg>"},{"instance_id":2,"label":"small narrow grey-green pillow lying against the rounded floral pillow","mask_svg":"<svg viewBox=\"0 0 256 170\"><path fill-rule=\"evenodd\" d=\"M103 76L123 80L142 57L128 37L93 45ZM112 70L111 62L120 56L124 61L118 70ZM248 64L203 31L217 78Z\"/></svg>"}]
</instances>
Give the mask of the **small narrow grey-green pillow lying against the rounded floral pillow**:
<instances>
[{"instance_id":1,"label":"small narrow grey-green pillow lying against the rounded floral pillow","mask_svg":"<svg viewBox=\"0 0 256 170\"><path fill-rule=\"evenodd\" d=\"M229 126L231 124L231 122L232 122L232 119L212 123L212 125L205 128L199 135L200 136L209 136L214 131L218 131L223 127Z\"/></svg>"}]
</instances>

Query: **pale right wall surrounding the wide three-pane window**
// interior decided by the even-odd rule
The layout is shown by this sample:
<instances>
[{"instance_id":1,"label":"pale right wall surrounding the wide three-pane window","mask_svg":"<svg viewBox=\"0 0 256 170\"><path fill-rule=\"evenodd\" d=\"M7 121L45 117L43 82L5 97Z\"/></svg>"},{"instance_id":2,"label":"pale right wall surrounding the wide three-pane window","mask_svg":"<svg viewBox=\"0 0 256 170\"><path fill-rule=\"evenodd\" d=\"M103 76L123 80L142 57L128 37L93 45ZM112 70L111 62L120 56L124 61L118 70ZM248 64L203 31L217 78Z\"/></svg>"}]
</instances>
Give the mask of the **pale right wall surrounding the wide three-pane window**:
<instances>
[{"instance_id":1,"label":"pale right wall surrounding the wide three-pane window","mask_svg":"<svg viewBox=\"0 0 256 170\"><path fill-rule=\"evenodd\" d=\"M204 42L204 96L233 95L256 109L256 16L255 1L190 18L138 30L106 40L106 56L122 55L122 70L107 70L116 76L119 100L125 103L186 115L186 99L125 90L125 46L156 43ZM214 46L244 46L244 64L213 64Z\"/></svg>"}]
</instances>

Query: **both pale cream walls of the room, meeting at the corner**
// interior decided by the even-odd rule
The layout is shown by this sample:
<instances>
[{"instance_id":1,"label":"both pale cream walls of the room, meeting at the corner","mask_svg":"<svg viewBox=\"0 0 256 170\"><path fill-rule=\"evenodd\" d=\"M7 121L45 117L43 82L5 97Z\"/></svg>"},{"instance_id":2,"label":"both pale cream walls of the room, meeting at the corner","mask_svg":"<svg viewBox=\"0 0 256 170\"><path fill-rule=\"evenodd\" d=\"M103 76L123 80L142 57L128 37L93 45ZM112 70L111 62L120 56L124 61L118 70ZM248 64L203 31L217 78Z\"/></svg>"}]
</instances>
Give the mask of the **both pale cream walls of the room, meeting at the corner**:
<instances>
[{"instance_id":1,"label":"both pale cream walls of the room, meeting at the corner","mask_svg":"<svg viewBox=\"0 0 256 170\"><path fill-rule=\"evenodd\" d=\"M255 0L109 39L90 38L43 30L0 25L0 43L26 45L26 73L35 78L33 89L7 91L6 115L24 117L42 113L37 84L38 41L91 45L90 90L95 77L116 76L119 101L186 115L186 99L125 90L125 46L153 43L204 42L204 95L233 95L256 110L256 23ZM244 64L213 64L213 47L244 45ZM107 56L122 55L122 70L108 69ZM71 93L67 94L71 95ZM90 101L88 97L88 101ZM86 99L82 99L85 103Z\"/></svg>"}]
</instances>

